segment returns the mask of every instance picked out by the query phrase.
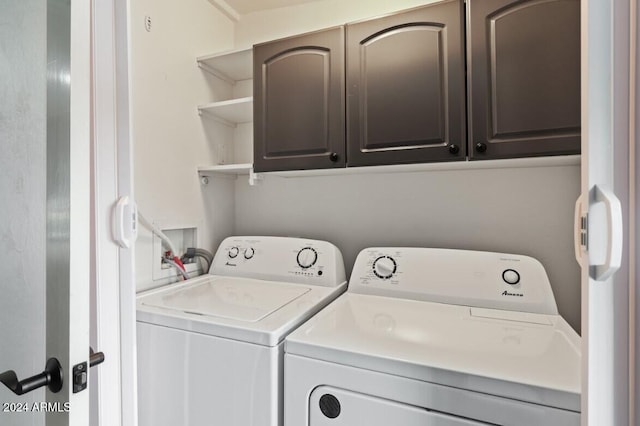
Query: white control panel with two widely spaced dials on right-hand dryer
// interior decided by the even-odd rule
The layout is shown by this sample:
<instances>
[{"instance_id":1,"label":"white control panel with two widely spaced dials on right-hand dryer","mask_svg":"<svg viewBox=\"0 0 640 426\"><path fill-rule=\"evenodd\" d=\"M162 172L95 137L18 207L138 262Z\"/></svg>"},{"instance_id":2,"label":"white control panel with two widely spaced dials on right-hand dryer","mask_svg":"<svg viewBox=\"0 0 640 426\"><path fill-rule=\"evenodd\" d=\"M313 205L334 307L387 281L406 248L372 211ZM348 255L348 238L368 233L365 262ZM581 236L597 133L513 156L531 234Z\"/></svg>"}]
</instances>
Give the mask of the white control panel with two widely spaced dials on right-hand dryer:
<instances>
[{"instance_id":1,"label":"white control panel with two widely spaced dials on right-hand dryer","mask_svg":"<svg viewBox=\"0 0 640 426\"><path fill-rule=\"evenodd\" d=\"M356 258L348 291L555 315L551 284L536 259L506 253L372 247Z\"/></svg>"}]
</instances>

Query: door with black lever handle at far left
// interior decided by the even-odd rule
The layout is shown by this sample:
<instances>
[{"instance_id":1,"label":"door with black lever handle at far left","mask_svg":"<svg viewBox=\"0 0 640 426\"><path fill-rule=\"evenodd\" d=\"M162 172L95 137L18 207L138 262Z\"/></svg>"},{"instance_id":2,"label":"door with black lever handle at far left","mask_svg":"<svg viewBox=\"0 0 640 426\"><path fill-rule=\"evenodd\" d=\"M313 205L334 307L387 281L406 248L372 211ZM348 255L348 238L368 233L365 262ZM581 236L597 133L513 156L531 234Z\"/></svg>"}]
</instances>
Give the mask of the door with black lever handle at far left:
<instances>
[{"instance_id":1,"label":"door with black lever handle at far left","mask_svg":"<svg viewBox=\"0 0 640 426\"><path fill-rule=\"evenodd\" d=\"M0 10L0 424L86 426L89 4Z\"/></svg>"}]
</instances>

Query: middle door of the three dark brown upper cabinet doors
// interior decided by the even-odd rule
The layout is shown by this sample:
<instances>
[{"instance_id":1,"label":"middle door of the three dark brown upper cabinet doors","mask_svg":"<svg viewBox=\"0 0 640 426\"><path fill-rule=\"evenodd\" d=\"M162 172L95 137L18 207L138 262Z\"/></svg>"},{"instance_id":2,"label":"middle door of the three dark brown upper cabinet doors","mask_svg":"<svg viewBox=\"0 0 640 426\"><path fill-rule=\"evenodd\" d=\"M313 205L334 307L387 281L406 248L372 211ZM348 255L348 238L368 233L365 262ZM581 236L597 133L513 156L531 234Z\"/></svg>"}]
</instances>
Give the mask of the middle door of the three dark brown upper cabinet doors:
<instances>
[{"instance_id":1,"label":"middle door of the three dark brown upper cabinet doors","mask_svg":"<svg viewBox=\"0 0 640 426\"><path fill-rule=\"evenodd\" d=\"M466 155L459 0L347 25L349 166Z\"/></svg>"}]
</instances>

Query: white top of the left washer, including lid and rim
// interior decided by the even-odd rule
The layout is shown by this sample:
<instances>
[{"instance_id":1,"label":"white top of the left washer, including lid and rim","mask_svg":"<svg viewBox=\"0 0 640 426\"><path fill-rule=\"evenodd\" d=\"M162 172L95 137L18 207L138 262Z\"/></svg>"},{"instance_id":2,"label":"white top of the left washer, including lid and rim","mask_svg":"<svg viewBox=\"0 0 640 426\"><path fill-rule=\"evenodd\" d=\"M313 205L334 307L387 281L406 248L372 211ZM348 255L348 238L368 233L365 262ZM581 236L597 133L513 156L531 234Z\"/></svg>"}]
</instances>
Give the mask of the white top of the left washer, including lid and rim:
<instances>
[{"instance_id":1,"label":"white top of the left washer, including lid and rim","mask_svg":"<svg viewBox=\"0 0 640 426\"><path fill-rule=\"evenodd\" d=\"M346 286L203 275L139 294L136 316L141 323L276 346Z\"/></svg>"}]
</instances>

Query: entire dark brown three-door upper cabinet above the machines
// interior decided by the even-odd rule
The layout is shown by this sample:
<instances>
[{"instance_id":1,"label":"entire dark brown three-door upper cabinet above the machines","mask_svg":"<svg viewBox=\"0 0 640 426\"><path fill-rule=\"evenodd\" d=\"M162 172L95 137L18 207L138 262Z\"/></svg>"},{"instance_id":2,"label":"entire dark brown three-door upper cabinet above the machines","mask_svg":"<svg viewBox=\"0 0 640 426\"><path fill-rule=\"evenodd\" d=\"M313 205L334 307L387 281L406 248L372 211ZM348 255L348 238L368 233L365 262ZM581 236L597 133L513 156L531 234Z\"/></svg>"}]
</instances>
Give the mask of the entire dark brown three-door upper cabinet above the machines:
<instances>
[{"instance_id":1,"label":"entire dark brown three-door upper cabinet above the machines","mask_svg":"<svg viewBox=\"0 0 640 426\"><path fill-rule=\"evenodd\" d=\"M257 172L579 152L580 0L447 0L254 46Z\"/></svg>"}]
</instances>

